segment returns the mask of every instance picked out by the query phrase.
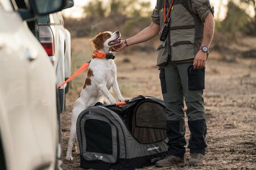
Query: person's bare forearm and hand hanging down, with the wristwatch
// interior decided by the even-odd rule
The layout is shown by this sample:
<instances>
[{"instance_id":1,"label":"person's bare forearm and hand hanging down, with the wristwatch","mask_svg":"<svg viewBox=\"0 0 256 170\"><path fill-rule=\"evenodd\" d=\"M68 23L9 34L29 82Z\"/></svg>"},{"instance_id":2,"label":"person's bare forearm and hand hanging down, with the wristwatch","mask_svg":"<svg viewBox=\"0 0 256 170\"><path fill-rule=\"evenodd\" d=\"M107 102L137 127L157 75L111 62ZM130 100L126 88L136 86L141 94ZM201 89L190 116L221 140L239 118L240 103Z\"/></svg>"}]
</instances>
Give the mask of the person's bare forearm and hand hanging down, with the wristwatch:
<instances>
[{"instance_id":1,"label":"person's bare forearm and hand hanging down, with the wristwatch","mask_svg":"<svg viewBox=\"0 0 256 170\"><path fill-rule=\"evenodd\" d=\"M212 39L213 39L214 27L215 27L215 22L214 22L213 14L208 13L204 22L204 34L203 34L203 42L201 44L201 47L210 46L210 43L212 42ZM200 49L199 52L197 52L193 62L194 69L199 69L199 68L201 69L205 67L206 60L207 60L207 53L203 52Z\"/></svg>"}]
</instances>

